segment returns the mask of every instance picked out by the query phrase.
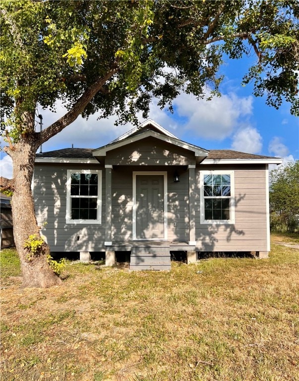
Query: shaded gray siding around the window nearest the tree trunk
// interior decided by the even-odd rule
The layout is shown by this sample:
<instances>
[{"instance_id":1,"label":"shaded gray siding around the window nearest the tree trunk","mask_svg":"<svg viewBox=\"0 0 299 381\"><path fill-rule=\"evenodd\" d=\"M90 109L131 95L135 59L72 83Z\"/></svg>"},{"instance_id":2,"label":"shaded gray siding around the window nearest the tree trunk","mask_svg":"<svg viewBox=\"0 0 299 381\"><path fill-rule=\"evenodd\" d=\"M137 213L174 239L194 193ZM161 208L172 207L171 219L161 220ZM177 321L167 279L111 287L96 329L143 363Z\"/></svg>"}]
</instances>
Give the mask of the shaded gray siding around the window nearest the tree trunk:
<instances>
[{"instance_id":1,"label":"shaded gray siding around the window nearest the tree trunk","mask_svg":"<svg viewBox=\"0 0 299 381\"><path fill-rule=\"evenodd\" d=\"M66 224L68 169L102 170L102 224ZM105 168L91 164L36 163L33 197L41 233L53 252L105 251Z\"/></svg>"}]
</instances>

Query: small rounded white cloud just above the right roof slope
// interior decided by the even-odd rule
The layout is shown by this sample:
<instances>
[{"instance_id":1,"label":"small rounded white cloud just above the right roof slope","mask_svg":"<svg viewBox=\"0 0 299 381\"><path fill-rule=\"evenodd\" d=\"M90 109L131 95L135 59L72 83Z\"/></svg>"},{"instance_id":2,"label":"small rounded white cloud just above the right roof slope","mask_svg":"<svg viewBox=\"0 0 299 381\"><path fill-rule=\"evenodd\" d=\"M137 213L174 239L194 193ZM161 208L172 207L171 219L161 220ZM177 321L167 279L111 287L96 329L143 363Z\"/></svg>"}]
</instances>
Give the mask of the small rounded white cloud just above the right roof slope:
<instances>
[{"instance_id":1,"label":"small rounded white cloud just above the right roof slope","mask_svg":"<svg viewBox=\"0 0 299 381\"><path fill-rule=\"evenodd\" d=\"M260 153L262 145L262 137L254 127L241 128L233 136L232 149L235 151Z\"/></svg>"}]
</instances>

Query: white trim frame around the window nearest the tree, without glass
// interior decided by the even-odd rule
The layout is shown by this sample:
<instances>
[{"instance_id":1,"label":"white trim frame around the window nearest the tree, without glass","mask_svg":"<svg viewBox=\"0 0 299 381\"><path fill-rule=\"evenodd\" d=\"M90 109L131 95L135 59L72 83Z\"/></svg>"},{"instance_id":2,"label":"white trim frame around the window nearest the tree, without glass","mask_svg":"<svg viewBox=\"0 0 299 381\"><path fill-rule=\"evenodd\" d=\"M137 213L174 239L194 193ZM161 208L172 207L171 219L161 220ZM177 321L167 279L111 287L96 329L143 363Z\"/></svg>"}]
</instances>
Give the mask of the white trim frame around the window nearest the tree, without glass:
<instances>
[{"instance_id":1,"label":"white trim frame around the window nearest the tree, without glass","mask_svg":"<svg viewBox=\"0 0 299 381\"><path fill-rule=\"evenodd\" d=\"M92 169L68 169L67 180L66 180L66 213L65 213L65 223L66 224L101 224L102 223L102 171L101 170L92 170ZM97 197L97 211L98 218L96 220L72 220L70 218L70 182L71 182L71 174L72 173L82 173L82 174L90 174L96 173L98 174L98 197Z\"/></svg>"}]
</instances>

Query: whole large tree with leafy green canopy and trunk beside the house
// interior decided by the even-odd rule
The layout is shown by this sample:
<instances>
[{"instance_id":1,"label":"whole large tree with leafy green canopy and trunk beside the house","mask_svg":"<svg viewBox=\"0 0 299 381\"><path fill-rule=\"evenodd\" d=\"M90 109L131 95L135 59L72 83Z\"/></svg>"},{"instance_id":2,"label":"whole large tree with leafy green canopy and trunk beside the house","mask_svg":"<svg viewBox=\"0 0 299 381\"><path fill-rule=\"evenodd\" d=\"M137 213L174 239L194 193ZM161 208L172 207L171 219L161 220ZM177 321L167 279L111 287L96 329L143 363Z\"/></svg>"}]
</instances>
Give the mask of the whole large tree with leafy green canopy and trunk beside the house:
<instances>
[{"instance_id":1,"label":"whole large tree with leafy green canopy and trunk beside the house","mask_svg":"<svg viewBox=\"0 0 299 381\"><path fill-rule=\"evenodd\" d=\"M254 94L276 108L286 99L299 115L296 0L2 0L0 13L1 133L13 162L24 285L57 282L30 187L36 150L80 114L137 123L136 112L146 117L153 98L171 108L182 91L219 95L224 58L251 55L243 84L253 82ZM58 100L67 113L36 132L37 105L51 109ZM29 237L40 243L30 263Z\"/></svg>"}]
</instances>

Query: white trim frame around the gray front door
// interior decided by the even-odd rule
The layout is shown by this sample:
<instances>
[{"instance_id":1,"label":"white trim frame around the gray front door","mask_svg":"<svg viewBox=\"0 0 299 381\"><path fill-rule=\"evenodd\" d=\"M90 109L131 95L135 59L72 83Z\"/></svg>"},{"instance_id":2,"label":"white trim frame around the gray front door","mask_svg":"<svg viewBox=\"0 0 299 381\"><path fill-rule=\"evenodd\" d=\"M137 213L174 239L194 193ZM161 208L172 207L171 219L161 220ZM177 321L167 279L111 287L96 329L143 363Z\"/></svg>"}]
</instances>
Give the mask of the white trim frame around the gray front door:
<instances>
[{"instance_id":1,"label":"white trim frame around the gray front door","mask_svg":"<svg viewBox=\"0 0 299 381\"><path fill-rule=\"evenodd\" d=\"M133 241L157 241L155 238L151 239L137 239L136 238L136 176L137 175L163 175L164 177L164 238L159 238L159 241L167 240L167 172L166 171L133 171Z\"/></svg>"}]
</instances>

